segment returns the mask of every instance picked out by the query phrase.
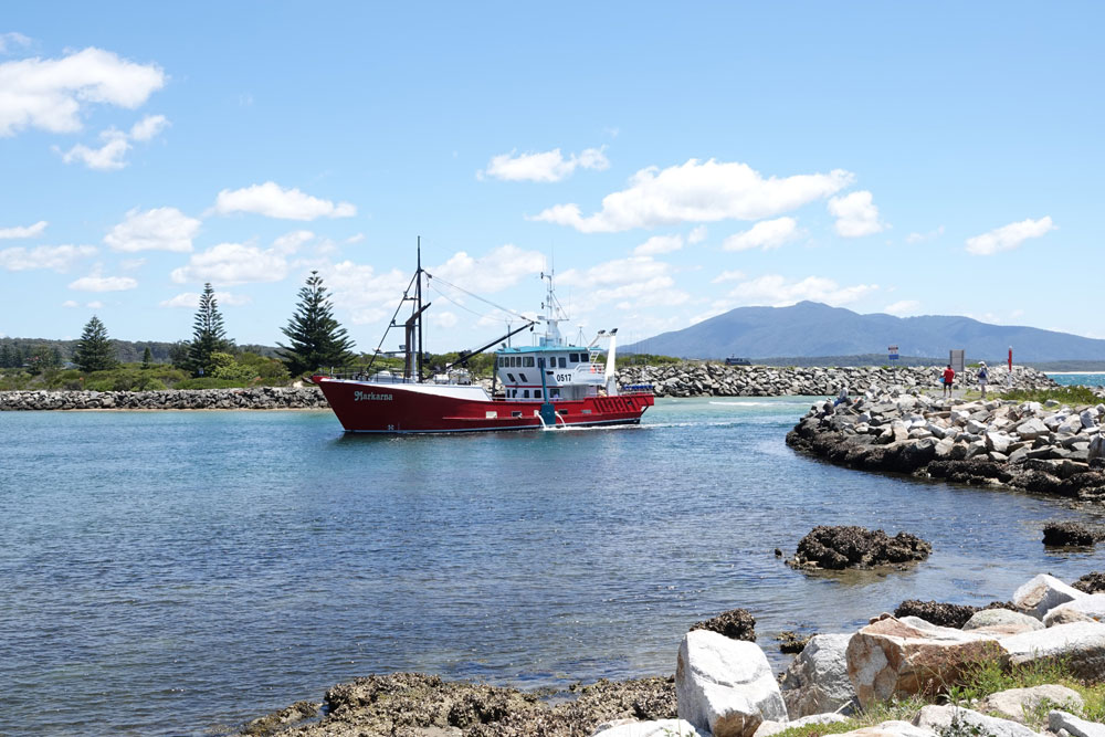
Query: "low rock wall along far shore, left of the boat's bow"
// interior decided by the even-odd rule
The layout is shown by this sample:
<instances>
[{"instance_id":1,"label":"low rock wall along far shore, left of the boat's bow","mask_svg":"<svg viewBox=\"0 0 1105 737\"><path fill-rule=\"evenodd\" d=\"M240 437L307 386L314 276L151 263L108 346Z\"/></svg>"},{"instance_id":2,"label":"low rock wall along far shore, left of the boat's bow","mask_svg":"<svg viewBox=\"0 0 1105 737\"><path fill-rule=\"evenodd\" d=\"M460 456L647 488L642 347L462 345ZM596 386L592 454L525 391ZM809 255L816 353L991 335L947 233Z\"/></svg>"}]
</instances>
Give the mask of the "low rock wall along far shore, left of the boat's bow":
<instances>
[{"instance_id":1,"label":"low rock wall along far shore, left of the boat's bow","mask_svg":"<svg viewBox=\"0 0 1105 737\"><path fill-rule=\"evenodd\" d=\"M317 387L162 391L0 391L0 411L325 409Z\"/></svg>"}]
</instances>

